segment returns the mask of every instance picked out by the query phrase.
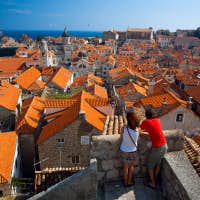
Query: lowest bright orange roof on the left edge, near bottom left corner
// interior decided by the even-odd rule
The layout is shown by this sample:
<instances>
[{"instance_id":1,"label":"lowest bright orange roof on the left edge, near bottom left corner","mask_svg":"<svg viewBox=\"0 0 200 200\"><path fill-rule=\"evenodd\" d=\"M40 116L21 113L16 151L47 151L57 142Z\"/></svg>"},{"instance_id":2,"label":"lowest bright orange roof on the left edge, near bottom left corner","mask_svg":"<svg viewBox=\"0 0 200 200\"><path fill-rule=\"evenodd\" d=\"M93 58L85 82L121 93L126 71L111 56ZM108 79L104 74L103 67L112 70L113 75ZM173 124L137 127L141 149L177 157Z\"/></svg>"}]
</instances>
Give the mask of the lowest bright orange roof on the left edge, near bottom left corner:
<instances>
[{"instance_id":1,"label":"lowest bright orange roof on the left edge, near bottom left corner","mask_svg":"<svg viewBox=\"0 0 200 200\"><path fill-rule=\"evenodd\" d=\"M16 149L16 132L0 134L0 177L10 181Z\"/></svg>"}]
</instances>

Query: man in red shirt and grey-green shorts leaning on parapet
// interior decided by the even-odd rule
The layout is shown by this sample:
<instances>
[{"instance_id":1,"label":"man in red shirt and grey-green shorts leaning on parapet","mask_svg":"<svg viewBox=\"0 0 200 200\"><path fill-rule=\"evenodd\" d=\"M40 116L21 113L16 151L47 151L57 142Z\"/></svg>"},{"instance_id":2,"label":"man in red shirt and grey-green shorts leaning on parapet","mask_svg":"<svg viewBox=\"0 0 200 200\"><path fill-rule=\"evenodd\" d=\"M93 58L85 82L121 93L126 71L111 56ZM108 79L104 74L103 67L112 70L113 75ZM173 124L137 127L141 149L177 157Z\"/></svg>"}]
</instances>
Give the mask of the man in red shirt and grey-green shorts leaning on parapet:
<instances>
[{"instance_id":1,"label":"man in red shirt and grey-green shorts leaning on parapet","mask_svg":"<svg viewBox=\"0 0 200 200\"><path fill-rule=\"evenodd\" d=\"M146 120L141 123L140 128L143 131L148 132L152 142L151 153L148 157L147 163L150 176L150 183L148 186L155 188L156 178L160 172L161 160L167 152L167 142L162 131L160 120L158 118L154 118L154 111L152 109L146 110L145 116Z\"/></svg>"}]
</instances>

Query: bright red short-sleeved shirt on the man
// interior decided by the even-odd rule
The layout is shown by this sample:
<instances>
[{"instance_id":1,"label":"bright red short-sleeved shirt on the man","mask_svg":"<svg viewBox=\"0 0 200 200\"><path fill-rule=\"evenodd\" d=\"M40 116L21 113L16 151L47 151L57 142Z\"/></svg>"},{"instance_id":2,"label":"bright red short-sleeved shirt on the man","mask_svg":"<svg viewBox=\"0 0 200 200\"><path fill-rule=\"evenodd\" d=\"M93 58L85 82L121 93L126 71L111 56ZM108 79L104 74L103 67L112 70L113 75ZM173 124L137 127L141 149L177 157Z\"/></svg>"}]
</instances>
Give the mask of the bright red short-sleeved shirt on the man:
<instances>
[{"instance_id":1,"label":"bright red short-sleeved shirt on the man","mask_svg":"<svg viewBox=\"0 0 200 200\"><path fill-rule=\"evenodd\" d=\"M167 143L165 135L162 131L160 119L146 119L142 122L140 128L149 133L152 142L152 147L160 147Z\"/></svg>"}]
</instances>

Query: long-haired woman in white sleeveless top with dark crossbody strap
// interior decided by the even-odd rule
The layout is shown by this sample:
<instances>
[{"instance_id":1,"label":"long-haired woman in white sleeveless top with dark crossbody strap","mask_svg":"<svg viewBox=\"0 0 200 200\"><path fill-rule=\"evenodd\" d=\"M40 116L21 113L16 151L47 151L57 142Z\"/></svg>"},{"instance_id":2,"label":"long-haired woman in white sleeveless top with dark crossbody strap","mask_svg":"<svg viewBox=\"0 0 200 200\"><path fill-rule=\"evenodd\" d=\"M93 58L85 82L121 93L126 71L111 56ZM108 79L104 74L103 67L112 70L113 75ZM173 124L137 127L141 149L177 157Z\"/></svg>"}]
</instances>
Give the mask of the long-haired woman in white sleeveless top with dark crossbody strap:
<instances>
[{"instance_id":1,"label":"long-haired woman in white sleeveless top with dark crossbody strap","mask_svg":"<svg viewBox=\"0 0 200 200\"><path fill-rule=\"evenodd\" d=\"M132 176L134 173L134 161L137 151L137 140L139 133L136 128L139 126L139 119L133 112L127 113L127 126L121 131L121 157L123 161L123 178L124 185L131 186L134 184Z\"/></svg>"}]
</instances>

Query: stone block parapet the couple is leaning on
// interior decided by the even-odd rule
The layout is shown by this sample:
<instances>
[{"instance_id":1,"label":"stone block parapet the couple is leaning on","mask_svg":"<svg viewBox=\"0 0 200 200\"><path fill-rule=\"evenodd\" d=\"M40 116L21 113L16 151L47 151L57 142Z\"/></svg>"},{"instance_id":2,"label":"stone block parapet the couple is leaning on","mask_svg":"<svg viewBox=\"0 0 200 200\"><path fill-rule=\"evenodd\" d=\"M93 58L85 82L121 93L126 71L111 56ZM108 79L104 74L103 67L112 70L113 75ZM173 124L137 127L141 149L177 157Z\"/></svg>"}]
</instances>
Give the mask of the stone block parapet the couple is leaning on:
<instances>
[{"instance_id":1,"label":"stone block parapet the couple is leaning on","mask_svg":"<svg viewBox=\"0 0 200 200\"><path fill-rule=\"evenodd\" d=\"M183 150L184 134L182 130L164 131L168 143L168 151ZM97 159L97 179L99 183L118 180L122 175L120 161L120 135L101 135L92 137L91 158ZM147 134L141 134L138 141L139 151L135 160L135 176L141 177L147 173L146 163L149 152Z\"/></svg>"}]
</instances>

